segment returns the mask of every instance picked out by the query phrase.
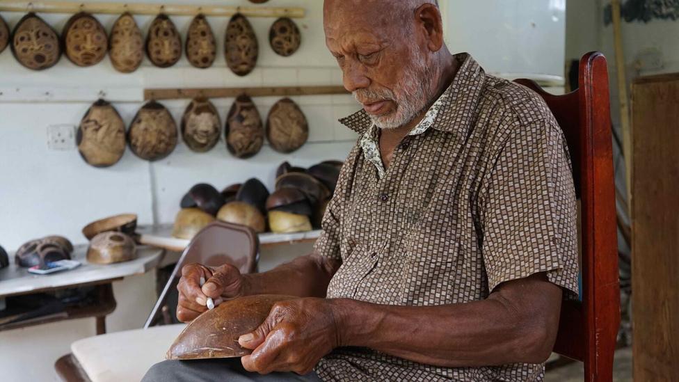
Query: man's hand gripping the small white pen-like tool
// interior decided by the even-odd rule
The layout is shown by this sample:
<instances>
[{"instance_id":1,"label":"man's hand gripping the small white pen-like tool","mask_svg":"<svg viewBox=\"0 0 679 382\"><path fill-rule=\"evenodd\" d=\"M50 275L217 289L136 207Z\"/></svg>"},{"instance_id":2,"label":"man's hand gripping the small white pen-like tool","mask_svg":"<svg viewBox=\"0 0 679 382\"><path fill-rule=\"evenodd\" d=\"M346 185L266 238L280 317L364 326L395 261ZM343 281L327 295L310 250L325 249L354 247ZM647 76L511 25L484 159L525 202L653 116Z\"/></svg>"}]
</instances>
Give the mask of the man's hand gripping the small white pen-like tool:
<instances>
[{"instance_id":1,"label":"man's hand gripping the small white pen-like tool","mask_svg":"<svg viewBox=\"0 0 679 382\"><path fill-rule=\"evenodd\" d=\"M200 287L200 278L207 280ZM243 296L243 275L230 264L211 268L201 264L188 264L182 268L177 290L177 319L182 322L193 321L207 310L207 298L211 297L214 305L225 300Z\"/></svg>"}]
</instances>

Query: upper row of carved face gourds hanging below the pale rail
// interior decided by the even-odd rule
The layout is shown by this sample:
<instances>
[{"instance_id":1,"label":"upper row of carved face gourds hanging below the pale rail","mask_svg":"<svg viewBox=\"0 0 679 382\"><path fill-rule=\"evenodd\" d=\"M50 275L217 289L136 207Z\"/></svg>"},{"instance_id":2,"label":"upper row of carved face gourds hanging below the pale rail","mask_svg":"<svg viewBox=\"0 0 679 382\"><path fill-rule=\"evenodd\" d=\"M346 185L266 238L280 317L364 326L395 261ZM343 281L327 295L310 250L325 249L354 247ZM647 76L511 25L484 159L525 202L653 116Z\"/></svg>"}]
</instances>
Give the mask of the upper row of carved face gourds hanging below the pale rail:
<instances>
[{"instance_id":1,"label":"upper row of carved face gourds hanging below the pale rail","mask_svg":"<svg viewBox=\"0 0 679 382\"><path fill-rule=\"evenodd\" d=\"M252 72L259 56L259 43L253 26L240 13L226 27L224 53L227 66L239 76ZM281 17L271 25L269 43L280 56L291 56L301 45L301 33L294 21ZM130 73L141 65L144 52L153 65L170 67L186 51L189 63L205 69L217 56L217 43L205 15L193 18L182 47L182 36L170 17L161 13L153 20L144 41L141 29L130 13L113 24L110 35L90 13L72 16L61 38L45 20L35 13L25 15L10 33L0 17L0 53L10 45L17 61L31 70L45 70L58 63L62 52L72 63L89 67L101 62L106 53L115 70Z\"/></svg>"}]
</instances>

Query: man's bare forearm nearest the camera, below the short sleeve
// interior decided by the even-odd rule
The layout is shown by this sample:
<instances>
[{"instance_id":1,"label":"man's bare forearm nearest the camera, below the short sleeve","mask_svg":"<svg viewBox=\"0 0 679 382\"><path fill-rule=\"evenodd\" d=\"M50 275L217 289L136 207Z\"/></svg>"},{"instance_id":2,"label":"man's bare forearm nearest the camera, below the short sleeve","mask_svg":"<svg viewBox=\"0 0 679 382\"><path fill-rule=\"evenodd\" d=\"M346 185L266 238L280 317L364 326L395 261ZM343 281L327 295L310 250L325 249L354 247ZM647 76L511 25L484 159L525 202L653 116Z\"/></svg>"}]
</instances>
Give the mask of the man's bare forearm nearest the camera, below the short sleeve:
<instances>
[{"instance_id":1,"label":"man's bare forearm nearest the camera, below the short sleeve","mask_svg":"<svg viewBox=\"0 0 679 382\"><path fill-rule=\"evenodd\" d=\"M337 299L339 342L443 367L541 363L554 344L561 303L559 287L544 283L550 296L538 296L543 301L534 306L550 312L532 310L532 301L514 305L501 295L424 307Z\"/></svg>"}]
</instances>

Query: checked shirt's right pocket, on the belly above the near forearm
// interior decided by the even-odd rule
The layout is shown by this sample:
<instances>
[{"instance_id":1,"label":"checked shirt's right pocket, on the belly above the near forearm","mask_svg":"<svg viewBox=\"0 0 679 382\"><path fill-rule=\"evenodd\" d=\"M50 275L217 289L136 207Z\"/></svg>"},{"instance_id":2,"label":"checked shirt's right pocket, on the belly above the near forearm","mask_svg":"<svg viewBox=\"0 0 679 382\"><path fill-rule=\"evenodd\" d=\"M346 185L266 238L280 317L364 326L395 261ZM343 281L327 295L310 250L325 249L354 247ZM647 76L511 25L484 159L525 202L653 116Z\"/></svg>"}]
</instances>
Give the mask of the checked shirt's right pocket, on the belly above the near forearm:
<instances>
[{"instance_id":1,"label":"checked shirt's right pocket, on the belly above the near forearm","mask_svg":"<svg viewBox=\"0 0 679 382\"><path fill-rule=\"evenodd\" d=\"M405 246L404 305L445 305L456 301L461 275L460 244L445 237Z\"/></svg>"}]
</instances>

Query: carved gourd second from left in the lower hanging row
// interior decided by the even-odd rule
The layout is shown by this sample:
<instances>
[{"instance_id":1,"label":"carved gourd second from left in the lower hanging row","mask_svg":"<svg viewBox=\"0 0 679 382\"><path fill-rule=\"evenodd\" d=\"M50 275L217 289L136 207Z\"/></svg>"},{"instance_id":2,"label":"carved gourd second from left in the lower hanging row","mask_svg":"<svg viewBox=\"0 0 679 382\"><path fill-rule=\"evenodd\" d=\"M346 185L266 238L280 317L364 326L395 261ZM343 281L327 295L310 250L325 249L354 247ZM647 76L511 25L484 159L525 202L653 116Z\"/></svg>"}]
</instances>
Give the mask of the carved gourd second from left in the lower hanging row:
<instances>
[{"instance_id":1,"label":"carved gourd second from left in the lower hanging row","mask_svg":"<svg viewBox=\"0 0 679 382\"><path fill-rule=\"evenodd\" d=\"M157 161L167 157L177 146L177 125L165 106L147 102L134 117L127 142L137 157Z\"/></svg>"}]
</instances>

